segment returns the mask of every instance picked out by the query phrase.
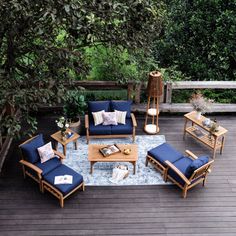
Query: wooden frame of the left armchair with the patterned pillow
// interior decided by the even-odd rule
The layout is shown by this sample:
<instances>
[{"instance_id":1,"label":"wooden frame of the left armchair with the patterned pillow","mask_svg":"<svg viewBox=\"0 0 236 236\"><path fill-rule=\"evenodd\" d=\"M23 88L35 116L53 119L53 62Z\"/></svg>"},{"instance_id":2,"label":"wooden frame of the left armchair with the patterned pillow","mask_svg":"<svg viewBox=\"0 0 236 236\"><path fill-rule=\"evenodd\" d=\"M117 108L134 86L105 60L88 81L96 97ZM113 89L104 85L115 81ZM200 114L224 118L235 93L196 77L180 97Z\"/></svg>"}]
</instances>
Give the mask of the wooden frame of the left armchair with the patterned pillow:
<instances>
[{"instance_id":1,"label":"wooden frame of the left armchair with the patterned pillow","mask_svg":"<svg viewBox=\"0 0 236 236\"><path fill-rule=\"evenodd\" d=\"M35 180L39 184L39 189L42 192L43 191L43 189L42 189L42 172L43 171L39 167L34 165L33 163L30 163L30 162L26 161L25 158L24 158L24 154L22 153L22 150L21 150L21 146L23 146L26 143L29 143L31 140L33 140L37 136L38 135L36 135L36 136L26 140L24 143L19 145L20 154L21 154L20 164L22 165L22 170L23 170L24 178L26 178L26 175L27 175L30 178L32 178L33 180ZM60 158L61 162L62 162L63 159L65 159L65 156L62 153L60 153L60 152L58 152L56 150L53 150L53 151L54 151L54 154ZM27 168L30 168L32 171L34 171L36 176L34 176L31 172L29 172L27 170Z\"/></svg>"}]
</instances>

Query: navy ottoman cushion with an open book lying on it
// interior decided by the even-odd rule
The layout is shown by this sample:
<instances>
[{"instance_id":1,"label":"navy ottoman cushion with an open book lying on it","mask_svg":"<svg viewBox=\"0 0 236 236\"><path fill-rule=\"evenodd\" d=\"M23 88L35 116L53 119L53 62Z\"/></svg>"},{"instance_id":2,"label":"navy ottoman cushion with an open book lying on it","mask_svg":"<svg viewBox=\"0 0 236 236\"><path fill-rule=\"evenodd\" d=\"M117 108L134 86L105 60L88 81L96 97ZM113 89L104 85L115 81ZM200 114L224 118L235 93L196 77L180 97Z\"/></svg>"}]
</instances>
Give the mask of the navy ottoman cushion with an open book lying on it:
<instances>
[{"instance_id":1,"label":"navy ottoman cushion with an open book lying on it","mask_svg":"<svg viewBox=\"0 0 236 236\"><path fill-rule=\"evenodd\" d=\"M72 184L56 184L54 185L55 176L60 175L72 175L73 182ZM74 188L80 185L83 182L83 176L79 173L72 170L70 167L61 164L59 167L54 169L53 171L49 172L48 174L44 175L44 180L47 181L49 184L54 186L58 189L64 196L71 192Z\"/></svg>"}]
</instances>

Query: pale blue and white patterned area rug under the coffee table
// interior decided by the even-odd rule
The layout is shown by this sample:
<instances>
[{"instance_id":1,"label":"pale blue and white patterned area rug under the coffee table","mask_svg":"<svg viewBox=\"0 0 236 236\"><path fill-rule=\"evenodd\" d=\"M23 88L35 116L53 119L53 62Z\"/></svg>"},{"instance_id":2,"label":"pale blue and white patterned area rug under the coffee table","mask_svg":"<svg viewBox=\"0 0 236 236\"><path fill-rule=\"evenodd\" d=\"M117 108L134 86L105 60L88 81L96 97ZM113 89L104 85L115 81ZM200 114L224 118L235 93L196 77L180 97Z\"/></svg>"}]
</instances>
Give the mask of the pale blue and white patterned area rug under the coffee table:
<instances>
[{"instance_id":1,"label":"pale blue and white patterned area rug under the coffee table","mask_svg":"<svg viewBox=\"0 0 236 236\"><path fill-rule=\"evenodd\" d=\"M138 145L138 161L136 163L136 174L133 175L133 165L130 163L121 163L128 165L129 175L118 184L110 181L112 170L118 163L96 163L94 164L93 174L90 171L90 162L88 161L88 145L86 137L82 136L78 140L78 150L74 150L73 143L67 145L66 159L64 164L80 173L84 177L85 185L90 186L117 186L117 185L158 185L166 184L160 173L149 164L145 166L147 151L165 142L164 135L137 135L136 144ZM91 139L94 144L127 144L132 143L130 138L122 139ZM62 147L59 145L59 151Z\"/></svg>"}]
</instances>

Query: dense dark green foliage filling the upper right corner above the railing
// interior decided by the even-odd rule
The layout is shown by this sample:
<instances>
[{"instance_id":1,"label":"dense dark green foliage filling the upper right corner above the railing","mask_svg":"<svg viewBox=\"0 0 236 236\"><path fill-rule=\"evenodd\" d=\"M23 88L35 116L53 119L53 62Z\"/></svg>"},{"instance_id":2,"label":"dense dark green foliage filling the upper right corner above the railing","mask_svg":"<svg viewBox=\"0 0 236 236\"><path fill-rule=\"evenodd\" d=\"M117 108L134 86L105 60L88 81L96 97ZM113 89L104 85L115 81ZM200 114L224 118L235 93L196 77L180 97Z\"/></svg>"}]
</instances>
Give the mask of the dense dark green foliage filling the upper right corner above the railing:
<instances>
[{"instance_id":1,"label":"dense dark green foliage filling the upper right corner above the railing","mask_svg":"<svg viewBox=\"0 0 236 236\"><path fill-rule=\"evenodd\" d=\"M193 80L235 80L236 2L168 1L168 21L156 44L162 67Z\"/></svg>"}]
</instances>

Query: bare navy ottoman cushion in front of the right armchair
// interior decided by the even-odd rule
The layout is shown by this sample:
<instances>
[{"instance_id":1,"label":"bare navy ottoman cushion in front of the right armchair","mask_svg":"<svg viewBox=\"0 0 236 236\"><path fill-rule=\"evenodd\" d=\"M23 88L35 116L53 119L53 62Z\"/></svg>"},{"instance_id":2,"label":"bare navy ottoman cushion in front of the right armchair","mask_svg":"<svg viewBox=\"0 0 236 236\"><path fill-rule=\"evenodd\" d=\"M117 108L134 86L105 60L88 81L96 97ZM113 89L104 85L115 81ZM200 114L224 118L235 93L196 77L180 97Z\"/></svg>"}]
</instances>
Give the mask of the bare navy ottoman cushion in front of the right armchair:
<instances>
[{"instance_id":1,"label":"bare navy ottoman cushion in front of the right armchair","mask_svg":"<svg viewBox=\"0 0 236 236\"><path fill-rule=\"evenodd\" d=\"M183 157L183 154L176 149L174 149L168 143L163 143L151 150L148 151L148 155L156 159L163 166L166 166L165 161L169 161L171 163L179 160Z\"/></svg>"}]
</instances>

